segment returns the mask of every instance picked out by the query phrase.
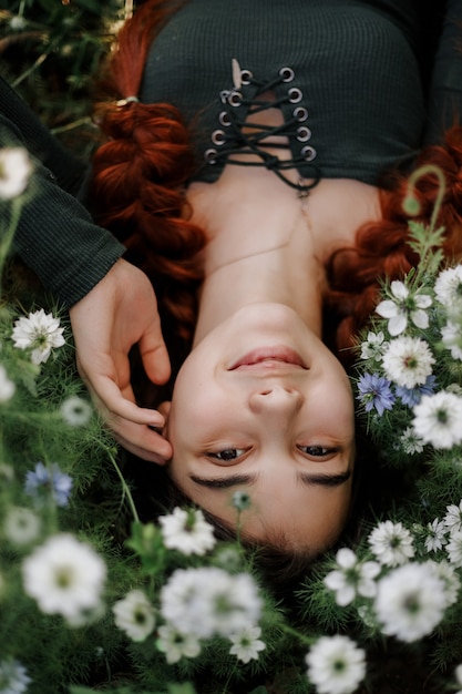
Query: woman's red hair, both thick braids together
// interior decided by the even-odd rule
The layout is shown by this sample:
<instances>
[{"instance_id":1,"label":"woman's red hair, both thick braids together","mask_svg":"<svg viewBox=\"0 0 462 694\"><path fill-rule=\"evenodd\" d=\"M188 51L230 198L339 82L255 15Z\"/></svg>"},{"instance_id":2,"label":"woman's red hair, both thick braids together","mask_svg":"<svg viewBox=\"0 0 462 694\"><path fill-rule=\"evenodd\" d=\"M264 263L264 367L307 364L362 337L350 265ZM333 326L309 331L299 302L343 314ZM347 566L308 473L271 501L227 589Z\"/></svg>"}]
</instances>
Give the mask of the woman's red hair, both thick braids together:
<instances>
[{"instance_id":1,"label":"woman's red hair, both thick braids together","mask_svg":"<svg viewBox=\"0 0 462 694\"><path fill-rule=\"evenodd\" d=\"M185 208L184 185L194 169L189 135L174 106L124 101L140 92L151 42L172 12L165 6L164 0L143 2L122 28L110 57L103 85L111 101L97 110L107 140L94 156L92 195L96 218L126 245L127 258L152 278L161 315L163 310L173 317L176 334L191 339L205 234L188 221ZM417 166L428 163L437 165L446 181L438 220L446 229L445 255L460 256L462 127L454 126L441 146L422 152ZM402 278L417 263L407 243L407 193L405 177L397 174L391 190L380 193L382 218L365 224L356 246L338 251L330 259L326 303L338 322L337 350L347 350L347 360L355 336L373 313L380 279ZM419 180L417 220L430 220L437 195L434 174Z\"/></svg>"}]
</instances>

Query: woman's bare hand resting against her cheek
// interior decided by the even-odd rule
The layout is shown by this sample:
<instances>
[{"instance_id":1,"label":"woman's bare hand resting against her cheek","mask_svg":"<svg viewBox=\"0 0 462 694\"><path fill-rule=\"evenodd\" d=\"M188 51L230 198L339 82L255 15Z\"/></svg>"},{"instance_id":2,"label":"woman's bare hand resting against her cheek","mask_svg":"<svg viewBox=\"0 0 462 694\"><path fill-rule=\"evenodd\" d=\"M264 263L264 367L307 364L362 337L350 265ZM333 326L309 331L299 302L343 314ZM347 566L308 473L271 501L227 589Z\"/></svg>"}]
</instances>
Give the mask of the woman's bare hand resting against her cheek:
<instances>
[{"instance_id":1,"label":"woman's bare hand resting against her cheek","mask_svg":"<svg viewBox=\"0 0 462 694\"><path fill-rule=\"evenodd\" d=\"M120 258L70 316L79 372L115 439L140 458L164 463L172 446L148 428L162 428L164 417L135 405L129 361L130 349L138 344L147 377L158 385L168 380L170 359L151 282Z\"/></svg>"}]
</instances>

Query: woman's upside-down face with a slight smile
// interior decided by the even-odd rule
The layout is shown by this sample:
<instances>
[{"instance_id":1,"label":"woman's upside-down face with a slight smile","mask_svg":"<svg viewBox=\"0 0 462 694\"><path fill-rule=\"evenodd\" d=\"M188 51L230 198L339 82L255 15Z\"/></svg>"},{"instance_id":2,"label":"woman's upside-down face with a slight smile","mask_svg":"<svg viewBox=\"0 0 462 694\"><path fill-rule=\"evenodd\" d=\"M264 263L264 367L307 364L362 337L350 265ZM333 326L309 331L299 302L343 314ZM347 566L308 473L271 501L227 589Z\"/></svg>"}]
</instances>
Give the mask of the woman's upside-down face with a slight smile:
<instances>
[{"instance_id":1,"label":"woman's upside-down face with a slight smile","mask_svg":"<svg viewBox=\"0 0 462 694\"><path fill-rule=\"evenodd\" d=\"M340 363L298 315L253 304L211 331L184 363L166 436L170 474L243 535L321 551L351 499L353 400Z\"/></svg>"}]
</instances>

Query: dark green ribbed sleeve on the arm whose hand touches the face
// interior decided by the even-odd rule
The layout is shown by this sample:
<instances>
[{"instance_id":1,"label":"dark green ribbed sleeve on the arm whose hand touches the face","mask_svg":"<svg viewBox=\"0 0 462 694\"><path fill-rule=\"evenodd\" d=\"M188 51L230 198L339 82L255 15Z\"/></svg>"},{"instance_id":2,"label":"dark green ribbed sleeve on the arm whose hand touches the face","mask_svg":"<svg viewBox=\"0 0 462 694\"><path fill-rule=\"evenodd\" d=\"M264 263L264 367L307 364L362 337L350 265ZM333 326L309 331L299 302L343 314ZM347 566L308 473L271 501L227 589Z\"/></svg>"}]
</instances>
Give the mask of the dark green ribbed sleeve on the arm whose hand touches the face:
<instances>
[{"instance_id":1,"label":"dark green ribbed sleeve on the arm whose hand touches the face","mask_svg":"<svg viewBox=\"0 0 462 694\"><path fill-rule=\"evenodd\" d=\"M125 248L96 226L71 194L79 190L84 166L66 155L25 104L21 104L20 118L17 112L11 120L9 94L0 80L0 147L24 146L33 160L14 251L44 287L72 306L104 277ZM0 202L0 229L9 221L10 204Z\"/></svg>"}]
</instances>

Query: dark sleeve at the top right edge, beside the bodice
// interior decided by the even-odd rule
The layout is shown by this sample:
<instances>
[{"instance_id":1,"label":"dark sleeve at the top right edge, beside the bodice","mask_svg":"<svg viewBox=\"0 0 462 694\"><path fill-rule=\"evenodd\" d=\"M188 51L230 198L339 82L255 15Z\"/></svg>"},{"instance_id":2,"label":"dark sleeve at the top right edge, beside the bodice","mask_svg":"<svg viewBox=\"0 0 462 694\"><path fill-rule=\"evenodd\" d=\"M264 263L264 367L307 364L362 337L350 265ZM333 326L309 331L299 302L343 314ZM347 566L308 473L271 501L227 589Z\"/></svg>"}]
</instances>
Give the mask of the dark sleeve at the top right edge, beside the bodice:
<instances>
[{"instance_id":1,"label":"dark sleeve at the top right edge, beside the bodice","mask_svg":"<svg viewBox=\"0 0 462 694\"><path fill-rule=\"evenodd\" d=\"M435 0L437 7L441 4ZM430 83L425 144L441 142L453 124L462 124L462 0L445 2Z\"/></svg>"}]
</instances>

